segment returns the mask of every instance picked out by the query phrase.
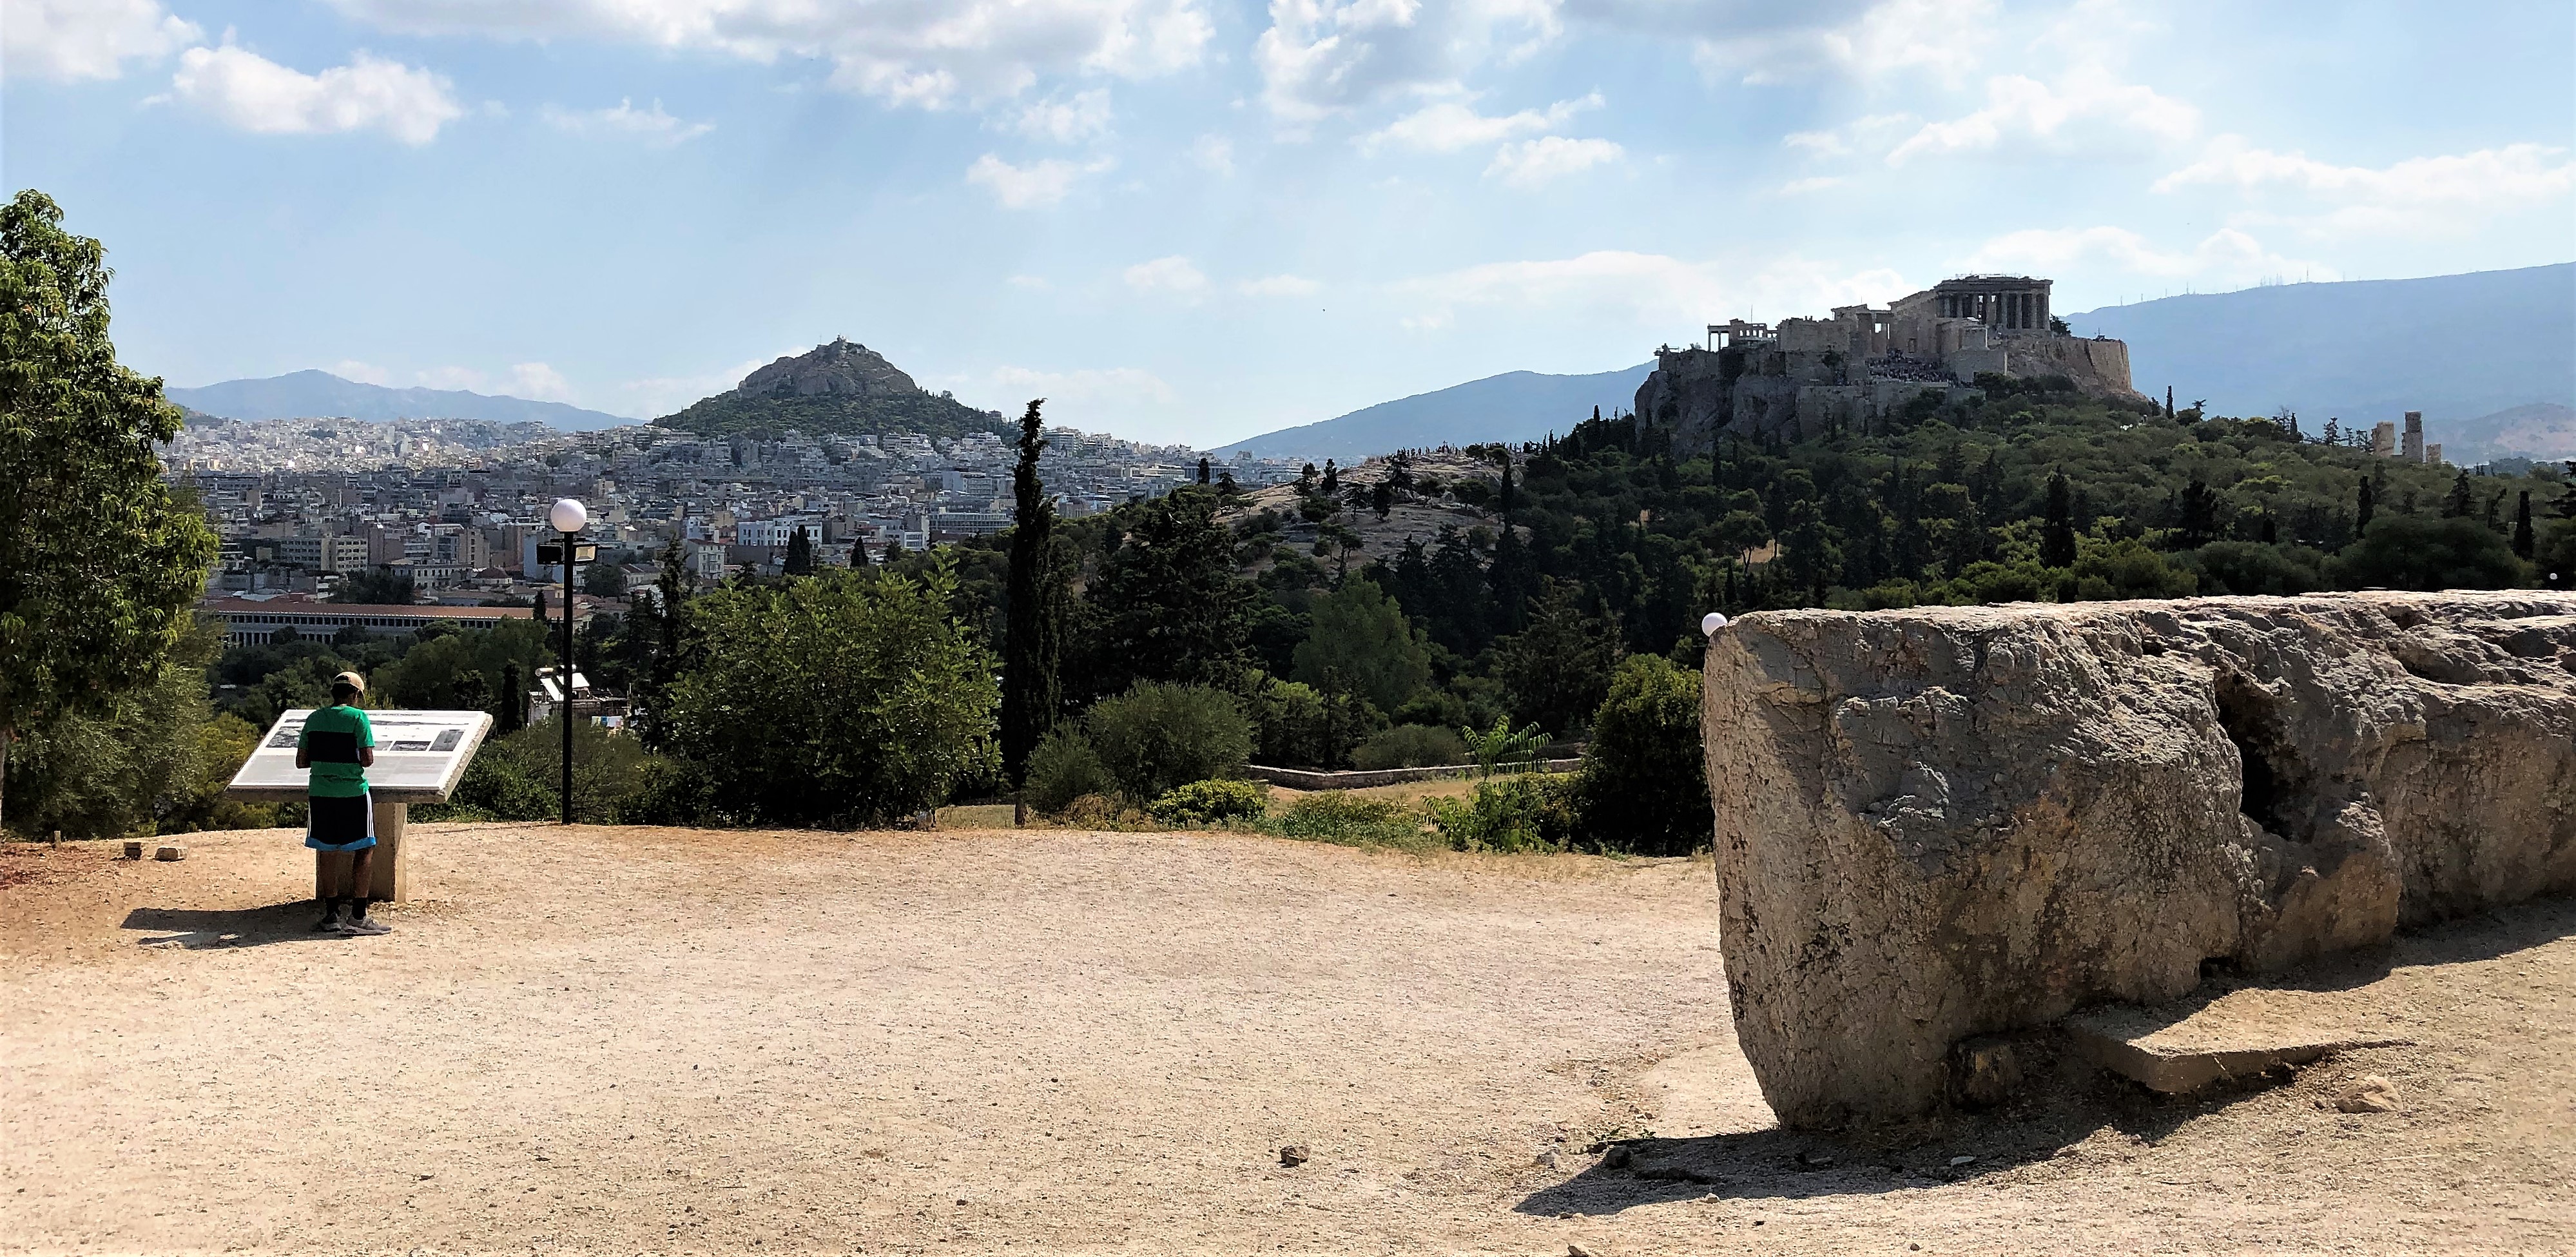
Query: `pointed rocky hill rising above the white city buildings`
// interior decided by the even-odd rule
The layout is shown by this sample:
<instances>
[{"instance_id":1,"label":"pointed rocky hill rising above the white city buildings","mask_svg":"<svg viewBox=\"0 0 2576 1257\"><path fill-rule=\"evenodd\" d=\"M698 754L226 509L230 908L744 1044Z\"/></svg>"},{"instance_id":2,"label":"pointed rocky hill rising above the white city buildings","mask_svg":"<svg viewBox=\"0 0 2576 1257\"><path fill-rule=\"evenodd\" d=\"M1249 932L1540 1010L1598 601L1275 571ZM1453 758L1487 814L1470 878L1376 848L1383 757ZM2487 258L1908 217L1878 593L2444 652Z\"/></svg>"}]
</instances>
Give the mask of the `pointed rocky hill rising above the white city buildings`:
<instances>
[{"instance_id":1,"label":"pointed rocky hill rising above the white city buildings","mask_svg":"<svg viewBox=\"0 0 2576 1257\"><path fill-rule=\"evenodd\" d=\"M729 392L654 420L698 435L734 433L1007 433L999 412L951 394L922 392L881 353L835 337L809 353L778 358Z\"/></svg>"}]
</instances>

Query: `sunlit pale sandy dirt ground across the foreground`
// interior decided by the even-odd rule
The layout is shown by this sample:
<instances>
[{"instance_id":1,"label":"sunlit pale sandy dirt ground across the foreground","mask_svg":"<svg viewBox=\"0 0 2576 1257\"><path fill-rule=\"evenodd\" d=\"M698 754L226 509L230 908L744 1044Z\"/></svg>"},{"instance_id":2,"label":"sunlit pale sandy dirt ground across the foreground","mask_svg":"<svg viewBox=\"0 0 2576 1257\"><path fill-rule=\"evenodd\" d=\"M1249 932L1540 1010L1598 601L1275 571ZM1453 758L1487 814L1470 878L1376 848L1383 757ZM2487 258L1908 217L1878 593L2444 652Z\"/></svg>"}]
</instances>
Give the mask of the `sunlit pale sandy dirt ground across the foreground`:
<instances>
[{"instance_id":1,"label":"sunlit pale sandy dirt ground across the foreground","mask_svg":"<svg viewBox=\"0 0 2576 1257\"><path fill-rule=\"evenodd\" d=\"M412 873L343 940L283 832L0 853L0 1249L2576 1249L2568 902L2231 997L2409 1046L1839 1141L1734 1051L1705 863L492 824ZM2393 1113L2321 1108L2362 1074Z\"/></svg>"}]
</instances>

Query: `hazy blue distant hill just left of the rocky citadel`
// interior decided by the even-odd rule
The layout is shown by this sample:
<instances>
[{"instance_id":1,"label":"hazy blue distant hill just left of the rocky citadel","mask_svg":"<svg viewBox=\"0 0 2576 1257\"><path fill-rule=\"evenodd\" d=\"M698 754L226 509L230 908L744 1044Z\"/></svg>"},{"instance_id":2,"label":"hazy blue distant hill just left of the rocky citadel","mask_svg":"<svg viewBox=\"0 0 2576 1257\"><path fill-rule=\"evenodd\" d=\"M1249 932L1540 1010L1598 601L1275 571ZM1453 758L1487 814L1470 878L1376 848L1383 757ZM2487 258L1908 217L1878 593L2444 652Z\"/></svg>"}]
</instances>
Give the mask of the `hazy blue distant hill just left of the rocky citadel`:
<instances>
[{"instance_id":1,"label":"hazy blue distant hill just left of the rocky citadel","mask_svg":"<svg viewBox=\"0 0 2576 1257\"><path fill-rule=\"evenodd\" d=\"M1378 402L1334 420L1280 428L1211 453L1234 456L1236 451L1252 451L1255 458L1340 458L1355 464L1370 453L1394 453L1399 448L1538 440L1589 420L1592 407L1610 412L1636 404L1636 386L1646 384L1649 371L1654 371L1654 363L1602 371L1597 376L1504 371L1396 402Z\"/></svg>"}]
</instances>

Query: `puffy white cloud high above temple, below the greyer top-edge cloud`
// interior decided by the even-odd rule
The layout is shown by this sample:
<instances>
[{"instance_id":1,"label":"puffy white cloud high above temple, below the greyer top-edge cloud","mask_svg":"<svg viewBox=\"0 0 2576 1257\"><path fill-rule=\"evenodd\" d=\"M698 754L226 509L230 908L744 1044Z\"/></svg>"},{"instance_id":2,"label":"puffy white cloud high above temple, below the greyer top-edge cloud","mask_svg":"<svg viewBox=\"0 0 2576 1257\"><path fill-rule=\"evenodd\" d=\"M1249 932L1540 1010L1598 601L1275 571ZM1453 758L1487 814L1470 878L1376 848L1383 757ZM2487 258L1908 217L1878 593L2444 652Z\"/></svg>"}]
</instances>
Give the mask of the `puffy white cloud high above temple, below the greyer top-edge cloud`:
<instances>
[{"instance_id":1,"label":"puffy white cloud high above temple, below the greyer top-edge cloud","mask_svg":"<svg viewBox=\"0 0 2576 1257\"><path fill-rule=\"evenodd\" d=\"M2058 85L2022 75L1986 80L1986 108L1950 121L1924 124L1888 152L1888 165L1955 152L2035 147L2071 152L2117 147L2123 139L2190 139L2200 111L2136 82L2107 75L2069 75Z\"/></svg>"}]
</instances>

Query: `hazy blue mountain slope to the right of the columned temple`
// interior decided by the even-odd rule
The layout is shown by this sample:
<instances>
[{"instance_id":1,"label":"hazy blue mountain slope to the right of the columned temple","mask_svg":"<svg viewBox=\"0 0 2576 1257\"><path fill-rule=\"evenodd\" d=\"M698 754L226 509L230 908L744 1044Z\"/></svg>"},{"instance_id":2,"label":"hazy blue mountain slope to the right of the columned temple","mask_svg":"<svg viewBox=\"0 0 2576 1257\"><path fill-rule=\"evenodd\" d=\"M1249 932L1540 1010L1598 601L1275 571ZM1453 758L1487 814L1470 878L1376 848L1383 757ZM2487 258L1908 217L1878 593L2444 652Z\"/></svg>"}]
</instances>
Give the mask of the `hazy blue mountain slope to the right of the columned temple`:
<instances>
[{"instance_id":1,"label":"hazy blue mountain slope to the right of the columned temple","mask_svg":"<svg viewBox=\"0 0 2576 1257\"><path fill-rule=\"evenodd\" d=\"M2066 322L2128 340L2138 392L2172 384L2218 415L2290 407L2313 433L2421 410L2452 464L2576 456L2576 263L2166 296Z\"/></svg>"}]
</instances>

